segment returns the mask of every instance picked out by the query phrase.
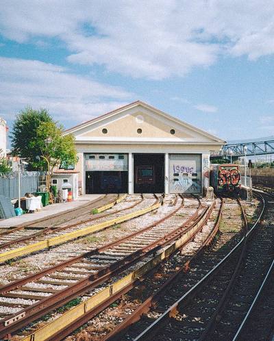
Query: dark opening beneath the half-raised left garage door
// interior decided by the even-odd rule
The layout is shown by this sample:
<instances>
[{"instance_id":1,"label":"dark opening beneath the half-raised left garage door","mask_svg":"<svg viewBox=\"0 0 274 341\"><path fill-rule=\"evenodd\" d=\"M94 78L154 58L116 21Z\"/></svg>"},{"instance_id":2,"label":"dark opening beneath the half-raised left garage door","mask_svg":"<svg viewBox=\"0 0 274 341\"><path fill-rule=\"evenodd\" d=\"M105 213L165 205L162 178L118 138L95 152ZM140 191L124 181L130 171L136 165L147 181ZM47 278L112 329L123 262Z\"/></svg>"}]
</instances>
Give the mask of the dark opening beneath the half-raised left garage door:
<instances>
[{"instance_id":1,"label":"dark opening beneath the half-raised left garage door","mask_svg":"<svg viewBox=\"0 0 274 341\"><path fill-rule=\"evenodd\" d=\"M126 171L86 171L86 194L127 193Z\"/></svg>"}]
</instances>

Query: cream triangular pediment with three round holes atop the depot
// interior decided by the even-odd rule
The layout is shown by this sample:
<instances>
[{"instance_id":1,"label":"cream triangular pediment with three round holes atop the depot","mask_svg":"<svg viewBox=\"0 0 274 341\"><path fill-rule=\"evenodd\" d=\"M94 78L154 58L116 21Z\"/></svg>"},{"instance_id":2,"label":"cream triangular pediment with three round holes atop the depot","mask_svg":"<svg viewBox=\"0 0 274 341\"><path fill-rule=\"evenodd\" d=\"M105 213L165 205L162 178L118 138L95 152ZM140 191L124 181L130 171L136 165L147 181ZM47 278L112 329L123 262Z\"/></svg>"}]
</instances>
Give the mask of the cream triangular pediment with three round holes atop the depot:
<instances>
[{"instance_id":1,"label":"cream triangular pediment with three round holes atop the depot","mask_svg":"<svg viewBox=\"0 0 274 341\"><path fill-rule=\"evenodd\" d=\"M72 133L76 142L225 143L140 101L71 128L66 133Z\"/></svg>"}]
</instances>

